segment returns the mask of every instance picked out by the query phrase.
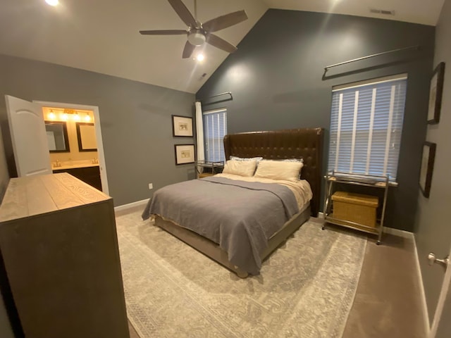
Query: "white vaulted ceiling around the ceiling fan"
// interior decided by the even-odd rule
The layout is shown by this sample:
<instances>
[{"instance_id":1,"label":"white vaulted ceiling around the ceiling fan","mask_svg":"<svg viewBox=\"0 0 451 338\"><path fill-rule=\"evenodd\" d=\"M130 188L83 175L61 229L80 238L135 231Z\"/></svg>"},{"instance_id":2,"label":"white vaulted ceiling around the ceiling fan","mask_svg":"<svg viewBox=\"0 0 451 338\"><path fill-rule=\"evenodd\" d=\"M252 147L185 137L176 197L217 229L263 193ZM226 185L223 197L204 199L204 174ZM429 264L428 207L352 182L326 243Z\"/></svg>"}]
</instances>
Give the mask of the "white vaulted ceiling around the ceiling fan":
<instances>
[{"instance_id":1,"label":"white vaulted ceiling around the ceiling fan","mask_svg":"<svg viewBox=\"0 0 451 338\"><path fill-rule=\"evenodd\" d=\"M194 0L183 0L194 15ZM239 44L268 8L360 15L436 25L444 0L197 0L197 20L244 9L248 20L216 32ZM371 9L391 14L372 13ZM226 59L197 47L202 62L182 58L185 35L143 36L139 30L186 30L167 0L0 0L0 54L91 70L195 93Z\"/></svg>"}]
</instances>

